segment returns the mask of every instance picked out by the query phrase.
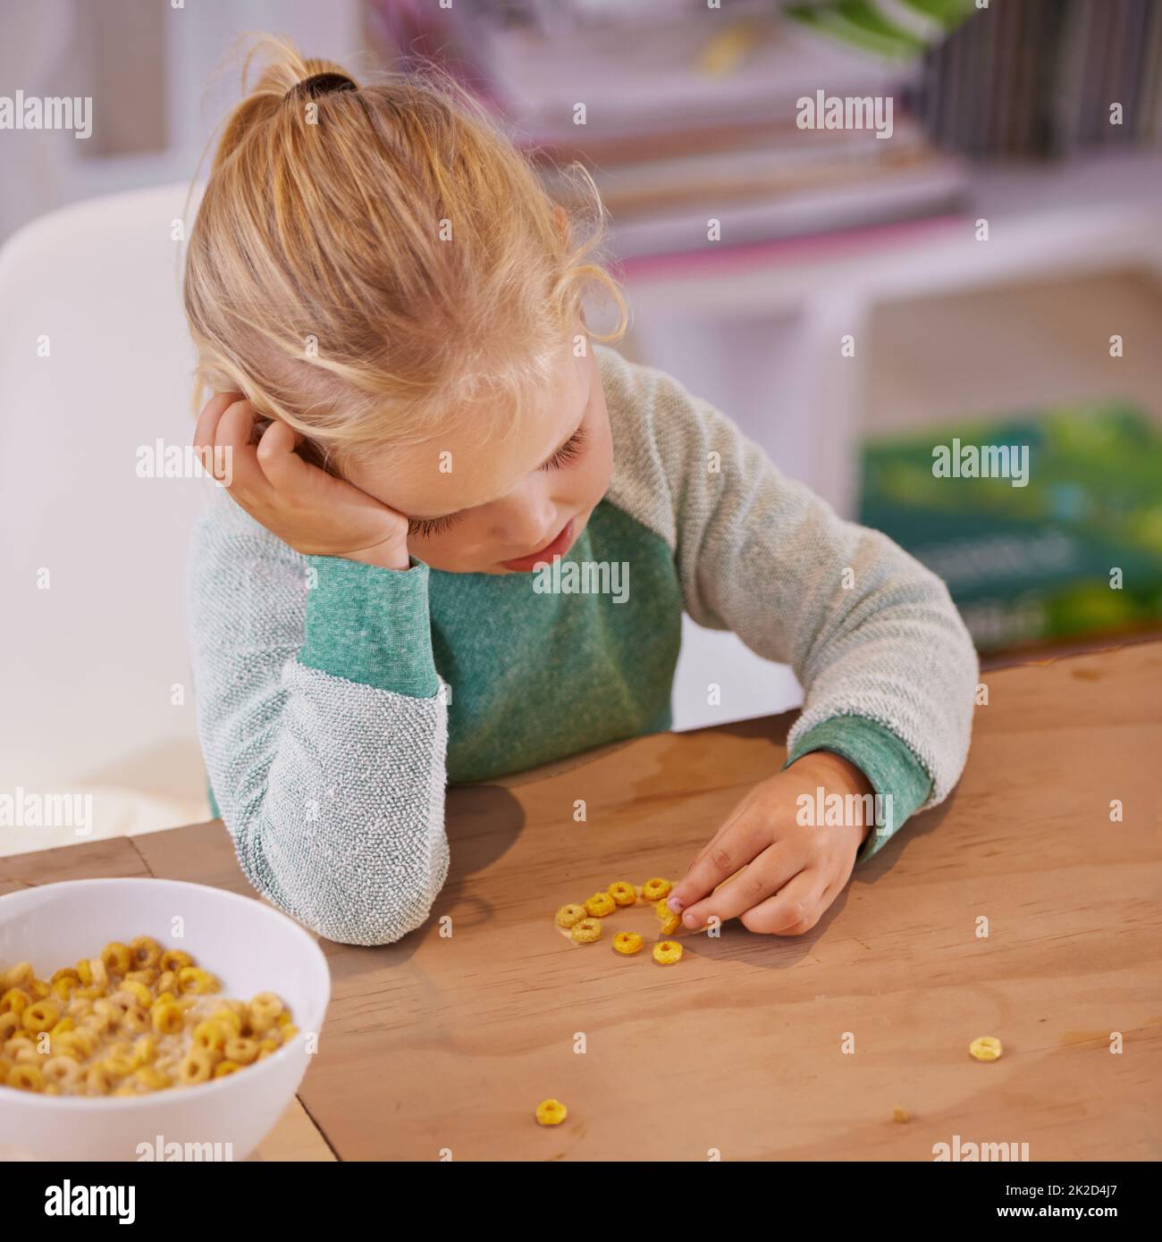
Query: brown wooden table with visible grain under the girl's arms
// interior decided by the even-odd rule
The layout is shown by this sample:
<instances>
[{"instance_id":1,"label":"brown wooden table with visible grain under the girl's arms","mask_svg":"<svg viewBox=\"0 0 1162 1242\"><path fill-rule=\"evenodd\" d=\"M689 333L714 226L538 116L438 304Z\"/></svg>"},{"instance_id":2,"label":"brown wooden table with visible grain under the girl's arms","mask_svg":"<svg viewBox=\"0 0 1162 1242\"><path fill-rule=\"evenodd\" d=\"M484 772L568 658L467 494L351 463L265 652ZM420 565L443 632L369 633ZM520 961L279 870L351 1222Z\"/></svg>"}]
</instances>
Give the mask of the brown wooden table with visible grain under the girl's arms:
<instances>
[{"instance_id":1,"label":"brown wooden table with visible grain under the girl's arms","mask_svg":"<svg viewBox=\"0 0 1162 1242\"><path fill-rule=\"evenodd\" d=\"M953 797L813 932L732 922L671 968L619 956L609 928L574 945L553 912L681 874L782 764L792 717L450 790L430 920L384 948L324 943L322 1047L260 1158L931 1160L953 1135L1033 1160L1162 1158L1162 643L984 676ZM217 821L0 858L0 893L86 876L249 892ZM971 1059L978 1035L1004 1057ZM569 1107L558 1128L533 1120L549 1095Z\"/></svg>"}]
</instances>

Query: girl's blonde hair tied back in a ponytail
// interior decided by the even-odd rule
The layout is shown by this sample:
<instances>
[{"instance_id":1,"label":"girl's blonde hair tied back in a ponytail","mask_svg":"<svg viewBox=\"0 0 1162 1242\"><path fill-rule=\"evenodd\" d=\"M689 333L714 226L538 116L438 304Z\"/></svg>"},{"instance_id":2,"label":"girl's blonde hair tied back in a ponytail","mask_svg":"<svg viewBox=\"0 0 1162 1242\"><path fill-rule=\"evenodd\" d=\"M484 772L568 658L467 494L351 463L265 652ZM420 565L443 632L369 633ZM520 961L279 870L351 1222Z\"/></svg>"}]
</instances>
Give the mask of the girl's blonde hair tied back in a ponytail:
<instances>
[{"instance_id":1,"label":"girl's blonde hair tied back in a ponytail","mask_svg":"<svg viewBox=\"0 0 1162 1242\"><path fill-rule=\"evenodd\" d=\"M265 67L222 123L186 251L195 412L206 388L241 391L342 463L425 440L477 402L521 406L578 329L624 335L624 297L593 257L605 212L583 166L567 173L585 191L567 210L432 65L362 86L261 36L244 92L256 56ZM355 89L295 91L318 73ZM585 219L595 229L574 245ZM605 335L584 323L590 286L619 310Z\"/></svg>"}]
</instances>

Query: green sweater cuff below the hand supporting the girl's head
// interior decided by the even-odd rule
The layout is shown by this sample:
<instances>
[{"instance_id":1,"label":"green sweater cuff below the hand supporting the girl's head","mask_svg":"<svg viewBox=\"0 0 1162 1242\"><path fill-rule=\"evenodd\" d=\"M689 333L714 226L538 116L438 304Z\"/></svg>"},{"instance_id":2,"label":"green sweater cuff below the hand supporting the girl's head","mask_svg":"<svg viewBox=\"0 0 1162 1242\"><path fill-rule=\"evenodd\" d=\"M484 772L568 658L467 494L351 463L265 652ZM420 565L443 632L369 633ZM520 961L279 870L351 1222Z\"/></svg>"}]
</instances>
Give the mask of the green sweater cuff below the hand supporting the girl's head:
<instances>
[{"instance_id":1,"label":"green sweater cuff below the hand supporting the girl's head","mask_svg":"<svg viewBox=\"0 0 1162 1242\"><path fill-rule=\"evenodd\" d=\"M298 662L377 689L431 698L440 689L428 611L429 568L380 569L339 556L307 556L307 591Z\"/></svg>"}]
</instances>

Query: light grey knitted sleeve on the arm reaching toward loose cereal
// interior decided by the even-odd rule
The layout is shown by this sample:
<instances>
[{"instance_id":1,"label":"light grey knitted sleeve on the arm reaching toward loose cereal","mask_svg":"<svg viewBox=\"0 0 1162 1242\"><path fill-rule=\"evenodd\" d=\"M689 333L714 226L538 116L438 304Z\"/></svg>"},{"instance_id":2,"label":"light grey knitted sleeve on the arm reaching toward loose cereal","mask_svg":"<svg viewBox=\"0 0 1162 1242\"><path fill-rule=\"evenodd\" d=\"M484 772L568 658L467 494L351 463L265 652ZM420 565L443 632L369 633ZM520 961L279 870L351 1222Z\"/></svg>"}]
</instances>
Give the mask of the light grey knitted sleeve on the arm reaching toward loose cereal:
<instances>
[{"instance_id":1,"label":"light grey knitted sleeve on the arm reaching toward loose cereal","mask_svg":"<svg viewBox=\"0 0 1162 1242\"><path fill-rule=\"evenodd\" d=\"M945 584L886 535L844 522L672 376L603 358L621 503L675 549L686 610L789 663L807 700L788 746L858 715L899 737L947 797L968 754L977 655Z\"/></svg>"}]
</instances>

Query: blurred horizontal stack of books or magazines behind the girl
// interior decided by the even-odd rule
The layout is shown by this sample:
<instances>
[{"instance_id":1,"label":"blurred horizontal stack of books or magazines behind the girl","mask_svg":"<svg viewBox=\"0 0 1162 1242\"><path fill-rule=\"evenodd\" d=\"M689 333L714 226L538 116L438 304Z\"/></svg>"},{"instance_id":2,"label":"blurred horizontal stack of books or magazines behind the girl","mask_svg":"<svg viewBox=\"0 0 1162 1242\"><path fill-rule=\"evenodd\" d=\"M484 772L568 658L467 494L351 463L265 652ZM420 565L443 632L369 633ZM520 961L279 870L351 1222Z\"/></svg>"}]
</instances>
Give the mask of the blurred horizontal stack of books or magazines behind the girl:
<instances>
[{"instance_id":1,"label":"blurred horizontal stack of books or magazines behind the girl","mask_svg":"<svg viewBox=\"0 0 1162 1242\"><path fill-rule=\"evenodd\" d=\"M457 4L436 10L439 29L411 5L372 11L395 67L431 57L456 73L559 201L579 197L562 169L587 168L623 260L894 224L963 200L962 164L906 108L918 58L820 37L769 4ZM802 101L830 98L880 99L890 125L804 127Z\"/></svg>"}]
</instances>

